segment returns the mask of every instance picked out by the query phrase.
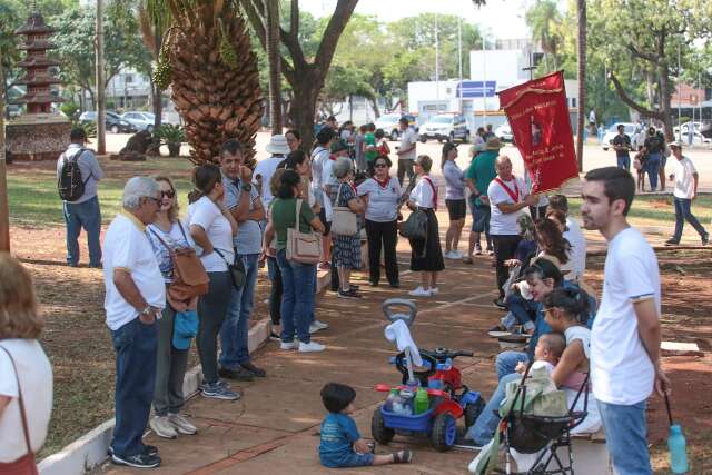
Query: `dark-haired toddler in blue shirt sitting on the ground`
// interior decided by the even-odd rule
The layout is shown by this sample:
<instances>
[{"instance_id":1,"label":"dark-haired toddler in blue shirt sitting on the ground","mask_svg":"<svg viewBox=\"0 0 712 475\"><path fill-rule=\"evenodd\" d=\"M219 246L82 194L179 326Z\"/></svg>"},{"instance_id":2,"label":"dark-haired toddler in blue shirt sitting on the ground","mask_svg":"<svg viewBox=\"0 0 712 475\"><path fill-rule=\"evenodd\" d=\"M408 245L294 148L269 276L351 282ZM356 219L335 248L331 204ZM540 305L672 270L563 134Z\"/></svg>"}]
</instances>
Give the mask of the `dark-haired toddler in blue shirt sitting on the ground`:
<instances>
[{"instance_id":1,"label":"dark-haired toddler in blue shirt sitting on the ground","mask_svg":"<svg viewBox=\"0 0 712 475\"><path fill-rule=\"evenodd\" d=\"M322 465L345 468L409 463L413 454L407 448L389 455L373 454L372 447L360 437L356 423L348 416L354 412L355 398L354 388L344 384L328 383L322 388L322 402L329 412L319 431Z\"/></svg>"}]
</instances>

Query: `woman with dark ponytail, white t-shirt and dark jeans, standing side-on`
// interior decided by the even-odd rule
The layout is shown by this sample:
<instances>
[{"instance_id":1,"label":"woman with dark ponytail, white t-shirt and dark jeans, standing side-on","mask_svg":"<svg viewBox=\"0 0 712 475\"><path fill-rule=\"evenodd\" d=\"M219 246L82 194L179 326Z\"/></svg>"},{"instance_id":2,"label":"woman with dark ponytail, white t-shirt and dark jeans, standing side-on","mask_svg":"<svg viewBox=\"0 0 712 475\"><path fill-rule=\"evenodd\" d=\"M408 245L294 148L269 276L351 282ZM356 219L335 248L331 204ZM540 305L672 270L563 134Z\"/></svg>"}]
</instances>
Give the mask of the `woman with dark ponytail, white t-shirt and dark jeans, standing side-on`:
<instances>
[{"instance_id":1,"label":"woman with dark ponytail, white t-shirt and dark jeans, standing side-on","mask_svg":"<svg viewBox=\"0 0 712 475\"><path fill-rule=\"evenodd\" d=\"M237 234L237 222L222 204L222 174L216 165L196 167L192 184L195 189L188 195L187 221L210 278L208 293L198 300L200 323L196 343L204 376L200 392L205 397L235 400L240 394L218 377L217 337L230 303L233 280L228 264L235 260L233 237Z\"/></svg>"}]
</instances>

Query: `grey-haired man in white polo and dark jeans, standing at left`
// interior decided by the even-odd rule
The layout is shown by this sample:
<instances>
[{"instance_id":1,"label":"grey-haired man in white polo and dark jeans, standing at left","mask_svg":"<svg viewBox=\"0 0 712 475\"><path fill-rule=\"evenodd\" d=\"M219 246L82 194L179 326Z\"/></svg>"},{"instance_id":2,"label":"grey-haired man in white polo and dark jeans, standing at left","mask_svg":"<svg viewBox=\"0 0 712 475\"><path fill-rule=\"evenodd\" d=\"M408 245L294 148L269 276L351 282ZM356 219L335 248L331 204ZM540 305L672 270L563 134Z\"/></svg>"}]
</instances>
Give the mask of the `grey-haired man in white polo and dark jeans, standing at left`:
<instances>
[{"instance_id":1,"label":"grey-haired man in white polo and dark jeans, standing at left","mask_svg":"<svg viewBox=\"0 0 712 475\"><path fill-rule=\"evenodd\" d=\"M116 350L116 426L111 458L120 465L160 465L156 447L141 437L156 379L156 318L166 306L164 284L146 225L154 221L160 188L152 178L134 177L123 188L123 209L103 239L107 325Z\"/></svg>"}]
</instances>

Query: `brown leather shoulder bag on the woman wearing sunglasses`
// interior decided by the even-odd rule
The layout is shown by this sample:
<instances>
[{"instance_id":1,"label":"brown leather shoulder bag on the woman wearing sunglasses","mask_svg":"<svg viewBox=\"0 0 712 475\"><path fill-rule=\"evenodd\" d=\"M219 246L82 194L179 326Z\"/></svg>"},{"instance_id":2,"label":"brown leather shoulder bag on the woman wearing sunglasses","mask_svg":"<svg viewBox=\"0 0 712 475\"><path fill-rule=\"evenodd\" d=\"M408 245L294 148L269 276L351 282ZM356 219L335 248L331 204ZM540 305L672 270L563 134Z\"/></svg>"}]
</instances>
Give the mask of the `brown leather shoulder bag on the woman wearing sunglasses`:
<instances>
[{"instance_id":1,"label":"brown leather shoulder bag on the woman wearing sunglasses","mask_svg":"<svg viewBox=\"0 0 712 475\"><path fill-rule=\"evenodd\" d=\"M186 243L190 243L180 221L178 221L178 226L180 227L180 232L186 239ZM174 248L168 246L158 232L152 229L150 229L150 231L158 238L160 244L168 249L170 260L174 265L174 280L170 286L168 286L168 299L186 301L191 298L206 295L208 293L210 278L208 277L208 273L206 273L200 258L196 255L196 250L194 248L181 248L176 251Z\"/></svg>"}]
</instances>

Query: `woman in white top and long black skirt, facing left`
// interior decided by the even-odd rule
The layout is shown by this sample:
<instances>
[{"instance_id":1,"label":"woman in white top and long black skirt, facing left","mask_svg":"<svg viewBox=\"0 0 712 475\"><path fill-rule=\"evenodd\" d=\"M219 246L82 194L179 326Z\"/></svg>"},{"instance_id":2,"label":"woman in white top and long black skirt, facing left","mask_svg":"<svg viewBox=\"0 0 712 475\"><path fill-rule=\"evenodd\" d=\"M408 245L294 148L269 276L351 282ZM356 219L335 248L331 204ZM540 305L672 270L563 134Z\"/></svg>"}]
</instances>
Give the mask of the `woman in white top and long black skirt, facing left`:
<instances>
[{"instance_id":1,"label":"woman in white top and long black skirt, facing left","mask_svg":"<svg viewBox=\"0 0 712 475\"><path fill-rule=\"evenodd\" d=\"M438 293L437 273L445 269L443 249L438 234L437 217L437 188L431 176L433 160L427 155L421 155L413 165L417 175L415 188L411 191L408 208L413 211L421 209L427 216L426 239L416 241L411 239L411 270L421 273L421 285L408 294L414 297L431 297Z\"/></svg>"}]
</instances>

